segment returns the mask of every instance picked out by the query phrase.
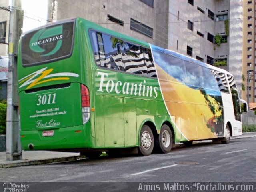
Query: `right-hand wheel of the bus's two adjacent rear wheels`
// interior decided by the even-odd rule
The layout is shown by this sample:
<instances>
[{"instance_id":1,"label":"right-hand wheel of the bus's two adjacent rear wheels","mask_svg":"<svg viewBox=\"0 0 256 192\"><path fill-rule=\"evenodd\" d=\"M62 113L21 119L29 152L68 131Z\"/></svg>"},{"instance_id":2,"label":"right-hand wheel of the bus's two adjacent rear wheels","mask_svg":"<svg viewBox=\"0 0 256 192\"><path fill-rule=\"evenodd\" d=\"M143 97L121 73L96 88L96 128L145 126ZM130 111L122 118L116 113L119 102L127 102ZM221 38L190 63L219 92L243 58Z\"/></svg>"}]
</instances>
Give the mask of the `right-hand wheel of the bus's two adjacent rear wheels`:
<instances>
[{"instance_id":1,"label":"right-hand wheel of the bus's two adjacent rear wheels","mask_svg":"<svg viewBox=\"0 0 256 192\"><path fill-rule=\"evenodd\" d=\"M172 149L172 131L168 125L162 125L160 134L156 136L155 151L169 153Z\"/></svg>"}]
</instances>

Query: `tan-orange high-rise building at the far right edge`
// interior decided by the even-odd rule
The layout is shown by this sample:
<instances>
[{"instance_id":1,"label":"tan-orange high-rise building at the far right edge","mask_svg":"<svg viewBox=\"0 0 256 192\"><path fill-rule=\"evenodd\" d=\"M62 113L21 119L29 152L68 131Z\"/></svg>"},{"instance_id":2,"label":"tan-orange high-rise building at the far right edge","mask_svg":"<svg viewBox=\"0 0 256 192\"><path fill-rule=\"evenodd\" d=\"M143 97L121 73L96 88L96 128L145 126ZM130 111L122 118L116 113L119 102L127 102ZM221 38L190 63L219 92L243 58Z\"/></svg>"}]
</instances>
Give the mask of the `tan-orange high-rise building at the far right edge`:
<instances>
[{"instance_id":1,"label":"tan-orange high-rise building at the far right edge","mask_svg":"<svg viewBox=\"0 0 256 192\"><path fill-rule=\"evenodd\" d=\"M247 94L249 96L249 102L256 102L256 79L255 67L256 67L256 47L255 47L255 0L244 0L243 1L243 17L244 17L244 33L243 33L243 75L245 81L245 91L243 92L243 98L246 100ZM248 92L247 92L247 81L248 81Z\"/></svg>"}]
</instances>

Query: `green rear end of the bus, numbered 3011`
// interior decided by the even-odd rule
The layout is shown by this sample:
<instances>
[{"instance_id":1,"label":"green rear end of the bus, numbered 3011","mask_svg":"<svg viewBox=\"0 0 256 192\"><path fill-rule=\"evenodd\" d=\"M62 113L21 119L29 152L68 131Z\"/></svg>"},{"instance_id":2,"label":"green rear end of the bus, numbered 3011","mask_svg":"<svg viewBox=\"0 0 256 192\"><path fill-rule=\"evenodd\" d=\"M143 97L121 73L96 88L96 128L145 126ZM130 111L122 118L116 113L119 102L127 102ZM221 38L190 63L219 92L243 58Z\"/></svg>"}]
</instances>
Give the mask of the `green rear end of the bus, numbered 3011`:
<instances>
[{"instance_id":1,"label":"green rear end of the bus, numbered 3011","mask_svg":"<svg viewBox=\"0 0 256 192\"><path fill-rule=\"evenodd\" d=\"M57 22L20 38L18 88L24 150L92 146L86 137L91 127L90 91L78 22Z\"/></svg>"}]
</instances>

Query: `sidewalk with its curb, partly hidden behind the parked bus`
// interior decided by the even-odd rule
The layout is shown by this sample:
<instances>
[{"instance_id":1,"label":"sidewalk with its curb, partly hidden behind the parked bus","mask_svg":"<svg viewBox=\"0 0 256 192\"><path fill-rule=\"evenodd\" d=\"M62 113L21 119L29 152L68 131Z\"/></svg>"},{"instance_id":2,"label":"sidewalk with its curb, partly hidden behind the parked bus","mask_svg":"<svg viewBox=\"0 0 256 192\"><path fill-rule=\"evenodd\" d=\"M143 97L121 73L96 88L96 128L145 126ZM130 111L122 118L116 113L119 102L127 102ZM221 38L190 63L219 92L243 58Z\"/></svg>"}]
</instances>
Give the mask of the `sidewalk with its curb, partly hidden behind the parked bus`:
<instances>
[{"instance_id":1,"label":"sidewalk with its curb, partly hidden behind the parked bus","mask_svg":"<svg viewBox=\"0 0 256 192\"><path fill-rule=\"evenodd\" d=\"M246 138L252 136L256 136L256 132L243 133L242 136L235 136L232 139ZM0 168L74 161L81 158L85 158L85 156L80 156L79 153L54 151L22 151L22 160L6 161L6 152L0 152Z\"/></svg>"}]
</instances>

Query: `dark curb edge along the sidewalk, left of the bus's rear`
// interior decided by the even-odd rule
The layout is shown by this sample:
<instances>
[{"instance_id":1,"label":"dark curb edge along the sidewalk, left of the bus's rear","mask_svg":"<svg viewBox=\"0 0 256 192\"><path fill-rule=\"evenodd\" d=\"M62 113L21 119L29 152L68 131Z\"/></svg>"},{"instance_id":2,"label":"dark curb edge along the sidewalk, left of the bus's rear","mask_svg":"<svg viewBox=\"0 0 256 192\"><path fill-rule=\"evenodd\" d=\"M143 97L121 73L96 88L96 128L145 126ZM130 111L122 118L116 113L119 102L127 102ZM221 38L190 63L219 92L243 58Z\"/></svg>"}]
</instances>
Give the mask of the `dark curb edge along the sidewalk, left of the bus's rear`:
<instances>
[{"instance_id":1,"label":"dark curb edge along the sidewalk, left of the bus's rear","mask_svg":"<svg viewBox=\"0 0 256 192\"><path fill-rule=\"evenodd\" d=\"M83 158L85 158L85 156L49 158L44 160L25 160L22 162L0 164L0 169L18 167L18 166L42 165L42 164L50 164L50 163L57 163L57 162L67 162L67 161L74 161L74 160L83 159Z\"/></svg>"}]
</instances>

